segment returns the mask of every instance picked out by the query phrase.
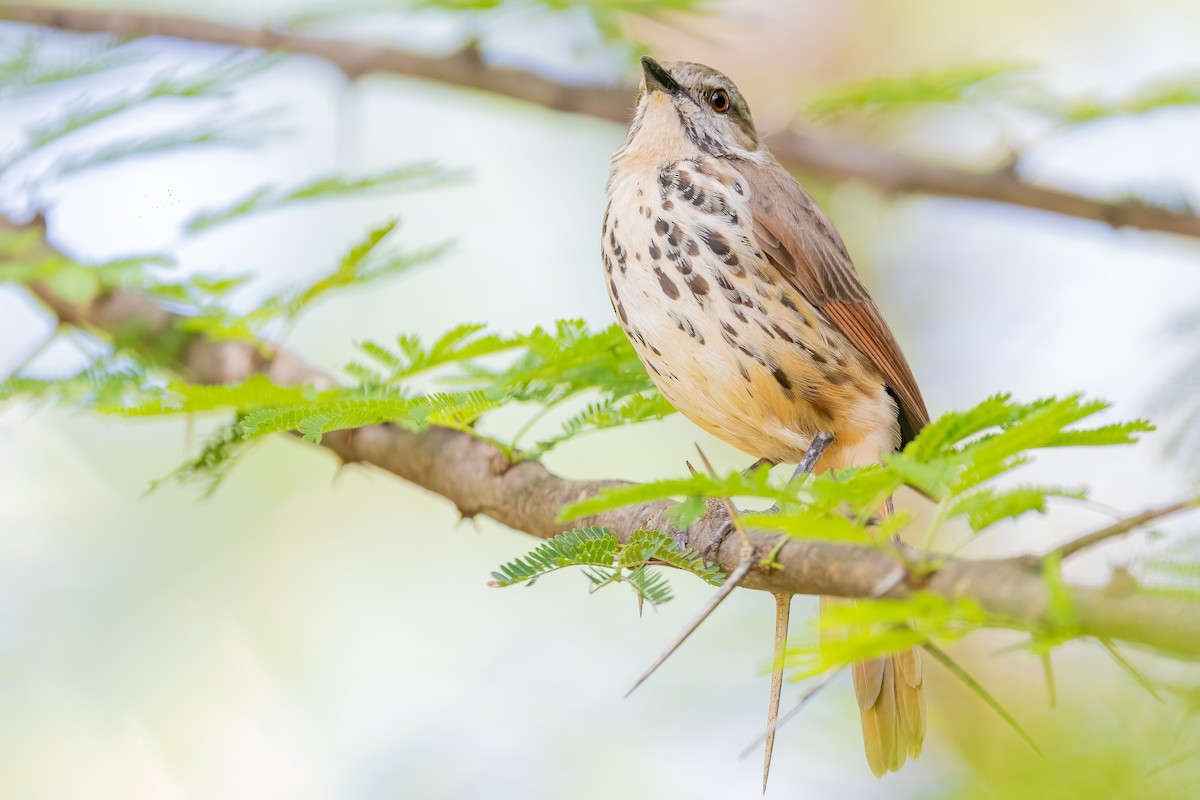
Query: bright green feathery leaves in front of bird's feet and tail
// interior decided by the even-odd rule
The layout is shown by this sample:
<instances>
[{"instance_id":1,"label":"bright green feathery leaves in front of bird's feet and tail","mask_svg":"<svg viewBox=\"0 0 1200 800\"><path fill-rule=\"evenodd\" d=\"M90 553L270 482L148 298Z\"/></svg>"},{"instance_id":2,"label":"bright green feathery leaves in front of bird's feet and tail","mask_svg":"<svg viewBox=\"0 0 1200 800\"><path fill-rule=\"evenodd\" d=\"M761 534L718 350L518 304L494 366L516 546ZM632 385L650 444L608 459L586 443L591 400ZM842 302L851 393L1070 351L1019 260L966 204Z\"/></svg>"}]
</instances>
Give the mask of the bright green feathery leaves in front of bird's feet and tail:
<instances>
[{"instance_id":1,"label":"bright green feathery leaves in front of bird's feet and tail","mask_svg":"<svg viewBox=\"0 0 1200 800\"><path fill-rule=\"evenodd\" d=\"M617 486L563 509L559 518L577 519L664 499L684 498L684 504L696 511L703 507L701 501L709 498L754 498L775 503L778 512L742 515L742 524L785 536L890 551L894 535L905 533L910 539L916 536L929 543L954 519L964 521L972 534L980 534L1031 511L1044 513L1050 499L1086 497L1082 488L998 485L1027 463L1037 450L1128 444L1138 433L1151 429L1140 420L1081 425L1106 407L1079 396L1022 403L997 395L974 408L950 411L934 420L902 452L887 457L878 465L823 473L799 486L774 480L767 469ZM905 515L877 524L888 498L901 488L913 489L936 503L924 530L914 531L913 518ZM908 566L916 571L936 569L935 563ZM1044 576L1055 600L1044 625L1028 630L1034 637L1031 645L1034 649L1079 636L1057 565L1048 563ZM970 604L919 594L905 601L859 601L850 610L839 613L853 619L846 621L834 616L829 624L858 633L839 637L836 646L822 646L820 652L812 650L805 662L808 666L799 668L802 676L913 645L950 640L984 625L1010 624L983 619L979 609Z\"/></svg>"}]
</instances>

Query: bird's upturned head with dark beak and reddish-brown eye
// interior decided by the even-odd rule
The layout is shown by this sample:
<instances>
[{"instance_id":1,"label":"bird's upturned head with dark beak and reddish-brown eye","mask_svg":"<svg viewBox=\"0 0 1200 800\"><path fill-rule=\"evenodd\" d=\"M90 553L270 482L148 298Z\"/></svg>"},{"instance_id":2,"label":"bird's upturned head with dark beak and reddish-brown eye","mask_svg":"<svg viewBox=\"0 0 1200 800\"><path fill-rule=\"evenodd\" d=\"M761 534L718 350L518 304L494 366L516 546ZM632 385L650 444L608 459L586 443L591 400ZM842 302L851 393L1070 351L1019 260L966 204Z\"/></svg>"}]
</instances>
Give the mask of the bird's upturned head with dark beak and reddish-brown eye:
<instances>
[{"instance_id":1,"label":"bird's upturned head with dark beak and reddish-brown eye","mask_svg":"<svg viewBox=\"0 0 1200 800\"><path fill-rule=\"evenodd\" d=\"M758 150L750 107L733 82L703 64L642 56L642 90L625 149L667 161Z\"/></svg>"}]
</instances>

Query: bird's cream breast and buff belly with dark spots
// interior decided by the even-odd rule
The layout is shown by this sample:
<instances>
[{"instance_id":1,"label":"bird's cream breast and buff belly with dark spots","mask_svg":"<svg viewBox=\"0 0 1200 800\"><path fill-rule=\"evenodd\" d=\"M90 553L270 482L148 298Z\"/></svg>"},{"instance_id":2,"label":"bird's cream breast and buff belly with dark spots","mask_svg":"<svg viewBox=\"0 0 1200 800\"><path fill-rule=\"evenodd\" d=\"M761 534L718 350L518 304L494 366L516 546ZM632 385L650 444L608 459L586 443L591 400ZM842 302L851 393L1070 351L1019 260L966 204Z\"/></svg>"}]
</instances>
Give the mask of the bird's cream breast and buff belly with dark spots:
<instances>
[{"instance_id":1,"label":"bird's cream breast and buff belly with dark spots","mask_svg":"<svg viewBox=\"0 0 1200 800\"><path fill-rule=\"evenodd\" d=\"M718 438L797 462L832 432L822 468L870 463L899 440L895 404L767 260L750 191L727 158L614 168L602 251L617 317L664 396Z\"/></svg>"}]
</instances>

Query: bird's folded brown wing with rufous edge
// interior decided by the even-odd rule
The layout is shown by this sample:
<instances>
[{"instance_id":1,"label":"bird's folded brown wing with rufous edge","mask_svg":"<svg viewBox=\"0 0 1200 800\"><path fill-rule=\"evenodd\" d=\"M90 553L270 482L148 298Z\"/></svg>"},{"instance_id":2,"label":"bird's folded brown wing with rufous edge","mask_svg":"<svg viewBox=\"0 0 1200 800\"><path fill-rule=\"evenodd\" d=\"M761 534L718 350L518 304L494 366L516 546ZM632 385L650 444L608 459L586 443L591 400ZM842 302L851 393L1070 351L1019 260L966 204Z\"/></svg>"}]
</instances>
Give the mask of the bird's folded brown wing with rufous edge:
<instances>
[{"instance_id":1,"label":"bird's folded brown wing with rufous edge","mask_svg":"<svg viewBox=\"0 0 1200 800\"><path fill-rule=\"evenodd\" d=\"M758 247L784 277L883 375L900 407L902 441L929 423L912 369L866 293L829 217L774 160L738 164L750 184Z\"/></svg>"}]
</instances>

